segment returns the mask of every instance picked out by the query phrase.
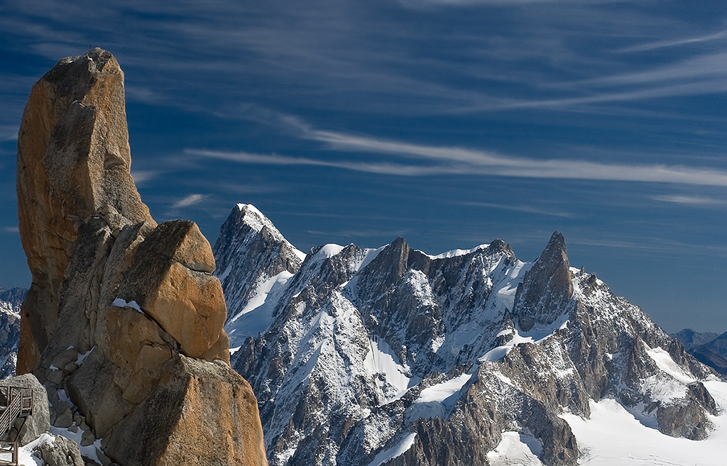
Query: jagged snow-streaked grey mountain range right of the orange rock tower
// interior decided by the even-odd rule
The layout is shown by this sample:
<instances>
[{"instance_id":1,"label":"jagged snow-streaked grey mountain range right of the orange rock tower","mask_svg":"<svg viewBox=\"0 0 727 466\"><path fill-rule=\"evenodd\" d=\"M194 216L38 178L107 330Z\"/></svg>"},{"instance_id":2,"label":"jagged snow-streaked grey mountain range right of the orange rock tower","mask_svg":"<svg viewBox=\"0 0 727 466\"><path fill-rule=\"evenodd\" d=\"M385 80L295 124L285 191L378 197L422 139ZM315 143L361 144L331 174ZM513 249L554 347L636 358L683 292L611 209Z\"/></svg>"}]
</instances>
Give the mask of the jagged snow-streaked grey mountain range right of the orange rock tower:
<instances>
[{"instance_id":1,"label":"jagged snow-streaked grey mountain range right of the orange rock tower","mask_svg":"<svg viewBox=\"0 0 727 466\"><path fill-rule=\"evenodd\" d=\"M237 216L214 253L258 277L275 248L235 240ZM246 280L224 287L260 296ZM558 232L531 264L500 240L440 256L402 238L378 250L324 245L265 298L238 304L264 325L232 364L257 393L271 465L488 465L507 431L533 437L545 464L575 465L578 439L560 415L590 417L591 400L615 398L695 440L717 412L702 384L714 373L571 268ZM683 375L659 365L668 360Z\"/></svg>"}]
</instances>

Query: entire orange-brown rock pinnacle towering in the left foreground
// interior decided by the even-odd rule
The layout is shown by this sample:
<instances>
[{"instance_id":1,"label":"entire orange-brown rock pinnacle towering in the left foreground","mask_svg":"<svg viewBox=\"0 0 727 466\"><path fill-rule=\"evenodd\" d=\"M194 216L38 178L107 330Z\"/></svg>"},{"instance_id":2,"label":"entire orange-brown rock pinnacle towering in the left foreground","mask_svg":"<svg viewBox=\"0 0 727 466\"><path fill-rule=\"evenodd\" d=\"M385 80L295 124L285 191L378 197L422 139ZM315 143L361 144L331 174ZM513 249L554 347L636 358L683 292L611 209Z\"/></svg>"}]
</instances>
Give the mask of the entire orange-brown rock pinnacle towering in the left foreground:
<instances>
[{"instance_id":1,"label":"entire orange-brown rock pinnacle towering in the left foreground","mask_svg":"<svg viewBox=\"0 0 727 466\"><path fill-rule=\"evenodd\" d=\"M44 383L55 425L103 438L122 466L190 464L192 446L217 445L241 425L244 436L199 461L265 465L254 396L228 365L212 248L193 222L156 224L130 165L119 64L101 49L61 60L33 86L18 139L20 234L33 274L18 372ZM214 371L199 370L205 364ZM169 428L151 431L149 413ZM129 438L154 448L127 450Z\"/></svg>"}]
</instances>

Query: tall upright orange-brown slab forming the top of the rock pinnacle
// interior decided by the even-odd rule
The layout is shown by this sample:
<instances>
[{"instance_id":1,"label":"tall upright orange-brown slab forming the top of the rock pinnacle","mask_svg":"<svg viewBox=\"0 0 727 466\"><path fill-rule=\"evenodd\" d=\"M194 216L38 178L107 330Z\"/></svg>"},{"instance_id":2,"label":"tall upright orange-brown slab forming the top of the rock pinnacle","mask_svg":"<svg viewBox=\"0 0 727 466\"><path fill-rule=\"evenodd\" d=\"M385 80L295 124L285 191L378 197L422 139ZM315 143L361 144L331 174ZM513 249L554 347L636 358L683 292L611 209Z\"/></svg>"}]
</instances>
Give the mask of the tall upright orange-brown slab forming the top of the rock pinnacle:
<instances>
[{"instance_id":1,"label":"tall upright orange-brown slab forming the top of the rock pinnacle","mask_svg":"<svg viewBox=\"0 0 727 466\"><path fill-rule=\"evenodd\" d=\"M55 330L81 222L106 206L128 224L153 219L129 173L124 73L108 52L61 60L33 86L17 146L20 237L33 275L17 361L24 373Z\"/></svg>"}]
</instances>

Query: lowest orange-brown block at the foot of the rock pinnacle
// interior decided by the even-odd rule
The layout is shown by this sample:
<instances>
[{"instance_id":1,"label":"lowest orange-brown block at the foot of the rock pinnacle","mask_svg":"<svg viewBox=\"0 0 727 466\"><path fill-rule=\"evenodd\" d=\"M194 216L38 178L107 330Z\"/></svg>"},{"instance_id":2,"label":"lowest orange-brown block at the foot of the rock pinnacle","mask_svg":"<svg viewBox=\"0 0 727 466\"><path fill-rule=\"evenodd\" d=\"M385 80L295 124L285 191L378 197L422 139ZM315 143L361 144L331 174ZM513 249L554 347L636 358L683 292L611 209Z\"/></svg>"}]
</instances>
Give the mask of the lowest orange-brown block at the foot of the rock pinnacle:
<instances>
[{"instance_id":1,"label":"lowest orange-brown block at the foot of the rock pinnacle","mask_svg":"<svg viewBox=\"0 0 727 466\"><path fill-rule=\"evenodd\" d=\"M166 369L156 390L108 436L111 459L126 466L267 464L257 401L244 378L219 361L181 355Z\"/></svg>"}]
</instances>

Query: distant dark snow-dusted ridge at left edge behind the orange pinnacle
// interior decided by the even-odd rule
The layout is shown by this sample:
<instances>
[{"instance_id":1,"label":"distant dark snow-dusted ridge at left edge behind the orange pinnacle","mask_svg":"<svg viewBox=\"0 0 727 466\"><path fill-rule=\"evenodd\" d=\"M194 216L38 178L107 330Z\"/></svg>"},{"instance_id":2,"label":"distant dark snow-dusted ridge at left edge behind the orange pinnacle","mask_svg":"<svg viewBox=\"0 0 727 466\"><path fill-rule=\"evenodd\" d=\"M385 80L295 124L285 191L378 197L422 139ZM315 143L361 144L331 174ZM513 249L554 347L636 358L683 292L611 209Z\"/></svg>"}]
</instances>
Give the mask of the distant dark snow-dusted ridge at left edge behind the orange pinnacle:
<instances>
[{"instance_id":1,"label":"distant dark snow-dusted ridge at left edge behind the orange pinnacle","mask_svg":"<svg viewBox=\"0 0 727 466\"><path fill-rule=\"evenodd\" d=\"M0 379L15 375L20 339L20 306L28 290L0 288Z\"/></svg>"}]
</instances>

